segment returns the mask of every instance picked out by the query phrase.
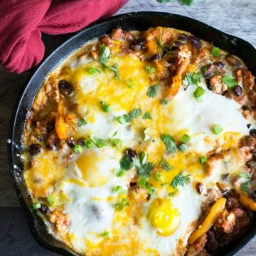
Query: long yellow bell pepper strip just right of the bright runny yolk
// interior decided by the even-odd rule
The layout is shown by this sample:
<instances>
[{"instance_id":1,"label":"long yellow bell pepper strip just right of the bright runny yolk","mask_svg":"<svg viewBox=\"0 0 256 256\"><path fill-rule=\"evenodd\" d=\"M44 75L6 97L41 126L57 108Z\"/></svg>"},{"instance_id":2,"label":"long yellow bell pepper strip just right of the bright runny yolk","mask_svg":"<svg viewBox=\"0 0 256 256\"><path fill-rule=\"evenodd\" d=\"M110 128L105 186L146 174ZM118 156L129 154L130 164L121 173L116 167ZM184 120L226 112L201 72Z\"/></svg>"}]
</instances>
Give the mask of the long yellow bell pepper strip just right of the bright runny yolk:
<instances>
[{"instance_id":1,"label":"long yellow bell pepper strip just right of the bright runny yolk","mask_svg":"<svg viewBox=\"0 0 256 256\"><path fill-rule=\"evenodd\" d=\"M225 209L225 198L219 198L218 201L214 203L214 205L210 208L210 212L206 216L205 220L203 220L203 223L199 226L199 228L194 231L190 238L188 238L188 243L192 245L198 238L200 238L202 235L206 234L208 230L213 226L215 221L220 217L220 215L223 213L223 210Z\"/></svg>"}]
</instances>

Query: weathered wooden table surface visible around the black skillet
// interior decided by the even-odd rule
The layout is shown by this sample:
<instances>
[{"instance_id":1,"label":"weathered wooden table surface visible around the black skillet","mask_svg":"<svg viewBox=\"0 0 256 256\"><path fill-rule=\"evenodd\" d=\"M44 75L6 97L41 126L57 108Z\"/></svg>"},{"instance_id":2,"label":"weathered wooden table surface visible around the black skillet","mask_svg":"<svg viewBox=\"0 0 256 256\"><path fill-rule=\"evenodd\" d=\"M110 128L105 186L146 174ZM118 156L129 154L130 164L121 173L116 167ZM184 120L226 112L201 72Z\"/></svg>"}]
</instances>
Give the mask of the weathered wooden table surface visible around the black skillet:
<instances>
[{"instance_id":1,"label":"weathered wooden table surface visible around the black skillet","mask_svg":"<svg viewBox=\"0 0 256 256\"><path fill-rule=\"evenodd\" d=\"M165 4L156 0L130 0L117 14L132 11L166 11L195 18L220 31L243 38L256 47L256 0L194 0L192 6L183 6L177 0ZM68 37L43 36L46 56ZM30 74L31 70L20 75L7 73L0 65L0 225L6 227L0 230L0 255L55 255L37 245L29 234L28 226L23 222L23 211L16 198L6 157L11 112ZM24 235L26 245L21 242ZM256 255L256 238L240 250L239 255Z\"/></svg>"}]
</instances>

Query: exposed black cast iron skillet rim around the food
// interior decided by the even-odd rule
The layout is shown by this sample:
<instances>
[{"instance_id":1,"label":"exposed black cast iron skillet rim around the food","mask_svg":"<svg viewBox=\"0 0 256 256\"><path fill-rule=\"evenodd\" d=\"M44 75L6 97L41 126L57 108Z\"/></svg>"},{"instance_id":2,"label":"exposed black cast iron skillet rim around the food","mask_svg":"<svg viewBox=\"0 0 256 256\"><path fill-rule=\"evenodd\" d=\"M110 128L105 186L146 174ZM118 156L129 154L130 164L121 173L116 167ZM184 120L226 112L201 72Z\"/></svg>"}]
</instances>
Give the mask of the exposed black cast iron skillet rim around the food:
<instances>
[{"instance_id":1,"label":"exposed black cast iron skillet rim around the food","mask_svg":"<svg viewBox=\"0 0 256 256\"><path fill-rule=\"evenodd\" d=\"M43 220L37 215L37 213L33 212L30 207L31 201L22 174L23 164L19 157L19 154L21 154L22 151L23 129L26 124L28 110L31 109L34 97L48 73L50 73L59 63L65 60L70 53L78 49L85 42L103 34L110 33L112 28L117 26L122 26L125 30L146 30L146 28L149 27L166 26L191 32L199 38L213 42L215 46L219 46L229 53L238 55L240 58L245 60L248 69L251 70L252 73L256 74L256 50L250 45L250 43L247 43L240 38L236 38L235 36L230 36L218 31L217 29L207 26L206 24L192 18L161 12L122 14L109 18L105 21L93 23L55 50L40 65L36 72L33 73L31 80L29 80L21 93L21 96L18 98L16 108L14 109L13 117L11 119L9 138L12 143L8 145L8 156L11 176L14 181L16 193L19 201L21 202L21 206L23 206L23 209L26 212L31 232L43 247L62 255L78 255L78 253L73 252L73 250L68 248L62 242L55 240L53 236L47 232ZM247 235L234 245L230 245L225 248L225 250L222 250L221 255L234 255L235 252L238 252L238 250L251 240L255 234L256 225L254 223Z\"/></svg>"}]
</instances>

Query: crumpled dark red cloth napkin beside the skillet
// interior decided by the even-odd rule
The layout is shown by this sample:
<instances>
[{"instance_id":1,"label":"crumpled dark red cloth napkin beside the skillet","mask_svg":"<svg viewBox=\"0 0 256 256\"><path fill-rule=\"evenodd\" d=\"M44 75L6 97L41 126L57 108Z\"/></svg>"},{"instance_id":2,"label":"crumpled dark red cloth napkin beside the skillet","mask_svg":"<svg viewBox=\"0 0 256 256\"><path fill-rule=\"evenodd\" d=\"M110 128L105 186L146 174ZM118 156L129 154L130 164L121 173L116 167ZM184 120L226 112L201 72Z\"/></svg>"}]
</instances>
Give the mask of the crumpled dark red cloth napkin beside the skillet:
<instances>
[{"instance_id":1,"label":"crumpled dark red cloth napkin beside the skillet","mask_svg":"<svg viewBox=\"0 0 256 256\"><path fill-rule=\"evenodd\" d=\"M128 0L1 0L0 62L21 73L43 58L41 33L58 35L114 14Z\"/></svg>"}]
</instances>

